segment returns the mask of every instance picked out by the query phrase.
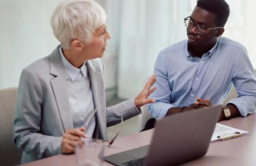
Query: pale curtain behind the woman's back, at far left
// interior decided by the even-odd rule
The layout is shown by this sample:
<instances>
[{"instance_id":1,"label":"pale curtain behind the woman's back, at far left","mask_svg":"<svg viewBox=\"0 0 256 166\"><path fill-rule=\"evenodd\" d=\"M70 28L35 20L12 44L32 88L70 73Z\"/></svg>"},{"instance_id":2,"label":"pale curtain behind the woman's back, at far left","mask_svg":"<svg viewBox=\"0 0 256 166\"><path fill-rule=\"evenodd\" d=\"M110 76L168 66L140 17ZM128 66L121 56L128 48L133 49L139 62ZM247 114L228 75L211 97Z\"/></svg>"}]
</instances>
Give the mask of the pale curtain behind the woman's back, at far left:
<instances>
[{"instance_id":1,"label":"pale curtain behind the woman's back, at far left","mask_svg":"<svg viewBox=\"0 0 256 166\"><path fill-rule=\"evenodd\" d=\"M0 1L0 89L18 86L21 70L56 47L50 18L61 1Z\"/></svg>"}]
</instances>

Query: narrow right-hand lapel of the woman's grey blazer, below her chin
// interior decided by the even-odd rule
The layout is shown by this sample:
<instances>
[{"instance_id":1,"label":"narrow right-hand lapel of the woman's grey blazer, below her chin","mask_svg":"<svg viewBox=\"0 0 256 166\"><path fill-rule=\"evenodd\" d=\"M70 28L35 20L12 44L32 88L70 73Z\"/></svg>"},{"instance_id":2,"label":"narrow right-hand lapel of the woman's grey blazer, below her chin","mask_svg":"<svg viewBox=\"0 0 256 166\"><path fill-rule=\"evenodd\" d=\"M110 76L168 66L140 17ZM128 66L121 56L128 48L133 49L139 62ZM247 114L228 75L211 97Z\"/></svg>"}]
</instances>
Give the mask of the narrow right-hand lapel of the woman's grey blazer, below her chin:
<instances>
[{"instance_id":1,"label":"narrow right-hand lapel of the woman's grey blazer, below her chin","mask_svg":"<svg viewBox=\"0 0 256 166\"><path fill-rule=\"evenodd\" d=\"M95 108L97 108L97 122L101 138L106 139L106 102L103 74L96 70L97 66L93 60L87 61L90 75L92 95Z\"/></svg>"}]
</instances>

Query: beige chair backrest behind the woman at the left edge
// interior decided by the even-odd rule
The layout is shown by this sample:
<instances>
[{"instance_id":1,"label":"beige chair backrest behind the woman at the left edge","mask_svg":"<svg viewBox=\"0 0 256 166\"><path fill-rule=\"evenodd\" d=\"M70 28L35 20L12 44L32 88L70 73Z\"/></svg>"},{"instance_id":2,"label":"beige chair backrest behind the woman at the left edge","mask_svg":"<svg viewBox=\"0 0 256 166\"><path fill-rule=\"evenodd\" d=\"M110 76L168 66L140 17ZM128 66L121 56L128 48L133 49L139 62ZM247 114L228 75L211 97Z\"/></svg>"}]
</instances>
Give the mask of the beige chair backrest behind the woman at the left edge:
<instances>
[{"instance_id":1,"label":"beige chair backrest behind the woman at the left edge","mask_svg":"<svg viewBox=\"0 0 256 166\"><path fill-rule=\"evenodd\" d=\"M22 151L13 142L17 87L0 90L0 165L17 165Z\"/></svg>"}]
</instances>

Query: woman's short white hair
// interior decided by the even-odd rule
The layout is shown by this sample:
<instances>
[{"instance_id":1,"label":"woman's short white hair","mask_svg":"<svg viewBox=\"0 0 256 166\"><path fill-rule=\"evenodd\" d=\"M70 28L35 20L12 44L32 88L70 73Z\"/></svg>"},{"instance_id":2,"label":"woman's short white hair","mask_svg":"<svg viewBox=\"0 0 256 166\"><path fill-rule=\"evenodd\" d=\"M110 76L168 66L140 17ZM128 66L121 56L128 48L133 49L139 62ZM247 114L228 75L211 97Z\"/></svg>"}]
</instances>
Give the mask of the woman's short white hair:
<instances>
[{"instance_id":1,"label":"woman's short white hair","mask_svg":"<svg viewBox=\"0 0 256 166\"><path fill-rule=\"evenodd\" d=\"M56 7L51 18L51 26L62 47L70 49L74 39L89 44L92 34L106 24L106 19L104 9L95 1L71 0Z\"/></svg>"}]
</instances>

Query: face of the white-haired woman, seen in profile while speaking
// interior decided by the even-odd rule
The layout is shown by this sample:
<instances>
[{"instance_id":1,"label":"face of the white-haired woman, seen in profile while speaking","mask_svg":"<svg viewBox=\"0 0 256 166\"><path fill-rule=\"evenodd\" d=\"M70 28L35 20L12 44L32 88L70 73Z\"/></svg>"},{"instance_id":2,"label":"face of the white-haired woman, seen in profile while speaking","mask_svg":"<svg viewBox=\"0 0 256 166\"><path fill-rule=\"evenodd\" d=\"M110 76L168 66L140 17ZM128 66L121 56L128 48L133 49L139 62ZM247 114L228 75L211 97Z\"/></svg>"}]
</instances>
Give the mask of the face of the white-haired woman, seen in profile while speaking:
<instances>
[{"instance_id":1,"label":"face of the white-haired woman, seen in profile while speaking","mask_svg":"<svg viewBox=\"0 0 256 166\"><path fill-rule=\"evenodd\" d=\"M85 45L83 51L90 56L90 59L101 58L106 50L107 40L110 38L106 25L102 25L92 34L91 43Z\"/></svg>"}]
</instances>

